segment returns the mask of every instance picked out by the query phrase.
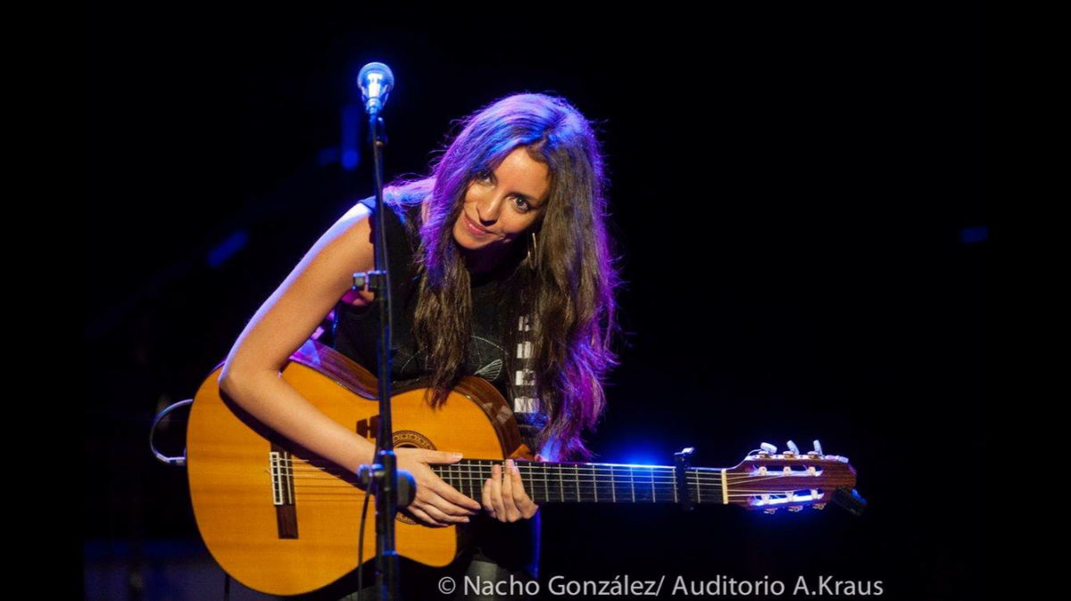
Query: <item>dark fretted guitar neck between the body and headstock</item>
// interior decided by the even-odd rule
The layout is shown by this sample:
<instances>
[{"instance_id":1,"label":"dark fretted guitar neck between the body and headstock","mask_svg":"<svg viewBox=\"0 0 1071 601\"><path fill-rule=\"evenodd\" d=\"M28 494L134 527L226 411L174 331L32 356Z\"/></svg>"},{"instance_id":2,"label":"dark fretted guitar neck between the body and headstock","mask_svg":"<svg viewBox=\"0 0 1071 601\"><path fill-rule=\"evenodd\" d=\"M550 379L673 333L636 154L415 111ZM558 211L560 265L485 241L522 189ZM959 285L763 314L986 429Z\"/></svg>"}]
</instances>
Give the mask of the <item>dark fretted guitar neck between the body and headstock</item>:
<instances>
[{"instance_id":1,"label":"dark fretted guitar neck between the body and headstock","mask_svg":"<svg viewBox=\"0 0 1071 601\"><path fill-rule=\"evenodd\" d=\"M480 498L492 467L501 461L462 460L432 468L448 484L471 498ZM517 461L525 492L536 503L680 503L674 467L616 463L552 463ZM725 503L722 471L692 467L687 471L692 503Z\"/></svg>"}]
</instances>

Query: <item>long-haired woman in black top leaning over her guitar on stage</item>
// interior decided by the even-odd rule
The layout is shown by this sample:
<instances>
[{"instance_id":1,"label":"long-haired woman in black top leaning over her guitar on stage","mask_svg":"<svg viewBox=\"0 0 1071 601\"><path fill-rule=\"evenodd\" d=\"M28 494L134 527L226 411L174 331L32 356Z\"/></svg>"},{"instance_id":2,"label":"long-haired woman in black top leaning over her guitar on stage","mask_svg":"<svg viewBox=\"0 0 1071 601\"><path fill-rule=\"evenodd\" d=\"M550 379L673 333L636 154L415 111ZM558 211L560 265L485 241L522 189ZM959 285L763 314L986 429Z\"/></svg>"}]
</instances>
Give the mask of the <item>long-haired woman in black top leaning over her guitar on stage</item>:
<instances>
[{"instance_id":1,"label":"long-haired woman in black top leaning over her guitar on stage","mask_svg":"<svg viewBox=\"0 0 1071 601\"><path fill-rule=\"evenodd\" d=\"M508 96L467 118L431 176L389 187L392 380L429 377L435 404L461 375L484 376L512 400L540 458L587 457L580 435L604 407L602 383L615 364L618 275L603 188L590 123L543 94ZM278 371L336 305L335 348L376 369L372 295L350 291L352 274L373 268L375 205L361 201L321 236L245 327L221 376L223 390L267 426L355 472L373 461L373 444ZM537 576L537 507L512 463L495 468L478 503L428 466L459 457L412 448L397 456L418 483L407 509L414 519L473 522L473 552L450 569L484 580ZM406 563L403 590L440 573Z\"/></svg>"}]
</instances>

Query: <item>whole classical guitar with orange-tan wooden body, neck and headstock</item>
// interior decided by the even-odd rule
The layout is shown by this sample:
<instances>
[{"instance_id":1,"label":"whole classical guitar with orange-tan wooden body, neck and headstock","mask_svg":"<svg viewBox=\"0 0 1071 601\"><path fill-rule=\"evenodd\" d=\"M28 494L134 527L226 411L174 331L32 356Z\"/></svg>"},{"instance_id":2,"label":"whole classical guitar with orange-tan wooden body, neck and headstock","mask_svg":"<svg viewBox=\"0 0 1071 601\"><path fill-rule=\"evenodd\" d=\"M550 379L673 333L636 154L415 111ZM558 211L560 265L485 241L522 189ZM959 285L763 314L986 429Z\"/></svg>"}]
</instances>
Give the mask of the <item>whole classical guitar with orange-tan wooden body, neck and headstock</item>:
<instances>
[{"instance_id":1,"label":"whole classical guitar with orange-tan wooden body, neck and headstock","mask_svg":"<svg viewBox=\"0 0 1071 601\"><path fill-rule=\"evenodd\" d=\"M218 389L221 368L195 397L186 438L190 495L212 556L242 584L272 595L323 587L355 570L359 514L365 493L349 471L278 436ZM376 379L315 341L290 358L283 377L338 423L377 432ZM433 410L425 388L392 397L397 447L461 451L458 463L434 466L463 494L479 499L492 466L517 458L525 490L537 503L675 503L745 509L821 508L829 500L861 509L855 469L845 458L761 451L728 468L549 463L531 459L498 390L465 377ZM854 491L853 491L854 493ZM398 554L446 566L462 551L466 528L428 527L399 514ZM375 523L365 524L364 557L375 556Z\"/></svg>"}]
</instances>

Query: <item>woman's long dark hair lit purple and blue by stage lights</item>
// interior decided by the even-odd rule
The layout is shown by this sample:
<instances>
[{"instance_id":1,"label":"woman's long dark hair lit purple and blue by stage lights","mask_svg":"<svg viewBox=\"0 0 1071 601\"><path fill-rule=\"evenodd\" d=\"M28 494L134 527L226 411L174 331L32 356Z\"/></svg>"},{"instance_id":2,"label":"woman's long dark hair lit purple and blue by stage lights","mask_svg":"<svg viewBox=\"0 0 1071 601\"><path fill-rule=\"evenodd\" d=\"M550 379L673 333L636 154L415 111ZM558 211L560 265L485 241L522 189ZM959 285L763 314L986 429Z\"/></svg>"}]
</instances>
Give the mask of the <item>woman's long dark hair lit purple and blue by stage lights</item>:
<instances>
[{"instance_id":1,"label":"woman's long dark hair lit purple and blue by stage lights","mask_svg":"<svg viewBox=\"0 0 1071 601\"><path fill-rule=\"evenodd\" d=\"M454 224L473 181L521 147L547 166L549 197L533 226L534 248L529 242L527 258L500 283L508 299L501 311L503 346L531 343L526 367L547 418L538 445L549 442L556 454L587 458L582 434L602 414L605 376L617 365L610 342L618 329L614 292L620 280L606 227L599 141L591 123L563 98L516 94L488 105L462 120L461 133L433 161L431 176L398 182L386 195L388 202L426 206L419 229L414 333L434 370L431 402L437 405L457 381L471 329L469 272ZM525 238L531 235L526 232ZM514 259L526 257L523 248ZM525 315L530 330L519 332L516 324ZM507 353L506 373L516 373L517 363Z\"/></svg>"}]
</instances>

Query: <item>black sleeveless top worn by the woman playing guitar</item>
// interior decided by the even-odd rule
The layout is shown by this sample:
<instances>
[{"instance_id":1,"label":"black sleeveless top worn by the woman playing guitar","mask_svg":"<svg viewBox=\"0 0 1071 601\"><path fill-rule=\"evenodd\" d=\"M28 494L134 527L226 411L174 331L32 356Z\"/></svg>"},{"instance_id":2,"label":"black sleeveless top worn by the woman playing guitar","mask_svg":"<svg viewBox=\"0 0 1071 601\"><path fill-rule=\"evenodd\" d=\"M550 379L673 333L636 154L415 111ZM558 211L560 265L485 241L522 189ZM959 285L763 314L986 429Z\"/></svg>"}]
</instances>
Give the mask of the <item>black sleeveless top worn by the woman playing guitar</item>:
<instances>
[{"instance_id":1,"label":"black sleeveless top worn by the woman playing guitar","mask_svg":"<svg viewBox=\"0 0 1071 601\"><path fill-rule=\"evenodd\" d=\"M375 218L376 199L360 201ZM419 247L417 229L420 218L420 203L390 204L387 213L388 268L391 273L393 294L393 324L391 333L391 381L402 385L431 374L427 353L419 348L413 334L417 300L420 293L420 275L417 272L416 253ZM500 315L503 307L499 294L500 280L479 282L471 289L472 326L470 352L462 367L463 375L478 375L491 382L502 397L510 399L510 374L506 373L506 353L501 328L524 324L503 324ZM334 348L340 353L378 373L377 339L379 318L372 306L355 307L340 302L335 307ZM513 350L524 354L524 346ZM517 356L517 355L514 355ZM519 361L518 361L519 363ZM526 374L513 374L514 390L518 398L510 403L521 427L522 440L534 452L536 437L545 423L545 416L539 411L533 398L533 387Z\"/></svg>"}]
</instances>

